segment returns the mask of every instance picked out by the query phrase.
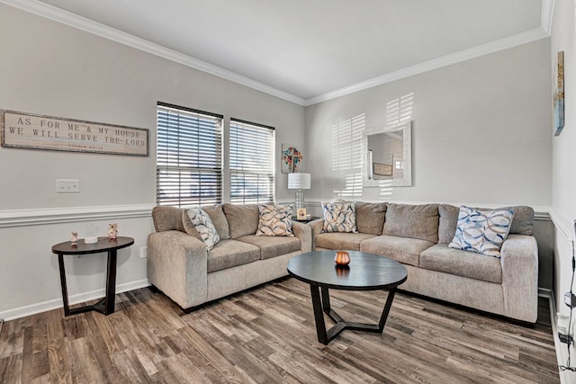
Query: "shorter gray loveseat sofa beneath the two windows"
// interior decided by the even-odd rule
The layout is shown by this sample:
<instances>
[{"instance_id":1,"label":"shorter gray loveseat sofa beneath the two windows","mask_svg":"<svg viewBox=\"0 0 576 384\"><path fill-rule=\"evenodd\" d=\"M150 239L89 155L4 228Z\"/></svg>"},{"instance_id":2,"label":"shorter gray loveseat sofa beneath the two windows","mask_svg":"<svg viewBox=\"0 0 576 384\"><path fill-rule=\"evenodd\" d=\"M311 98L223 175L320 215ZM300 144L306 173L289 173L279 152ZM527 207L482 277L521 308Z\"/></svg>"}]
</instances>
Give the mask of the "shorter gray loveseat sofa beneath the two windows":
<instances>
[{"instance_id":1,"label":"shorter gray loveseat sofa beneath the two windows","mask_svg":"<svg viewBox=\"0 0 576 384\"><path fill-rule=\"evenodd\" d=\"M148 281L181 308L246 290L288 274L294 255L311 251L311 228L293 222L294 237L257 237L257 204L202 207L220 241L206 250L202 239L189 235L184 209L155 207L156 232L148 236Z\"/></svg>"}]
</instances>

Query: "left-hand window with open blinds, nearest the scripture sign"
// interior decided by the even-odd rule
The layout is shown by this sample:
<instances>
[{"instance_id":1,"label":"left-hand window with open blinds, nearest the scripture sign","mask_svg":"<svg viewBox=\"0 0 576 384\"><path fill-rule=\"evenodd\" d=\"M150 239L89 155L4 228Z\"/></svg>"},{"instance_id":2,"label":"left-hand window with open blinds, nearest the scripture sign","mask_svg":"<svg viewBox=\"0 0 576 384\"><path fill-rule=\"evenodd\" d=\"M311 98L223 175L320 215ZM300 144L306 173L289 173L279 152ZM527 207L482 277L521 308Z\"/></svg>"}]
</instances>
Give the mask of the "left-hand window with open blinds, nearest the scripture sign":
<instances>
[{"instance_id":1,"label":"left-hand window with open blinds, nearest the scripture sign","mask_svg":"<svg viewBox=\"0 0 576 384\"><path fill-rule=\"evenodd\" d=\"M157 204L222 201L222 116L157 104Z\"/></svg>"}]
</instances>

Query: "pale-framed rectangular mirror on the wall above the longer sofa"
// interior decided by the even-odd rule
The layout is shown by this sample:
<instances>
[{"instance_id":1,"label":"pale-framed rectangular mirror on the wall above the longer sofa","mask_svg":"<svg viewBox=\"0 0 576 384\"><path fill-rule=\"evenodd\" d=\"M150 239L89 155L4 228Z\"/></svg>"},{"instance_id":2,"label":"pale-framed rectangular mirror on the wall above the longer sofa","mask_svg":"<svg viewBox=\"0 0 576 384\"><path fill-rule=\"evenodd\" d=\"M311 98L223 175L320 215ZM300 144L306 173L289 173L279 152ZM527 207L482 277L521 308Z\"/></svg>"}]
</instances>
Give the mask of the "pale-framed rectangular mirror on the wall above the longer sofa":
<instances>
[{"instance_id":1,"label":"pale-framed rectangular mirror on the wall above the longer sofa","mask_svg":"<svg viewBox=\"0 0 576 384\"><path fill-rule=\"evenodd\" d=\"M365 130L362 145L365 186L380 186L383 180L390 180L391 186L412 185L411 128L408 121Z\"/></svg>"}]
</instances>

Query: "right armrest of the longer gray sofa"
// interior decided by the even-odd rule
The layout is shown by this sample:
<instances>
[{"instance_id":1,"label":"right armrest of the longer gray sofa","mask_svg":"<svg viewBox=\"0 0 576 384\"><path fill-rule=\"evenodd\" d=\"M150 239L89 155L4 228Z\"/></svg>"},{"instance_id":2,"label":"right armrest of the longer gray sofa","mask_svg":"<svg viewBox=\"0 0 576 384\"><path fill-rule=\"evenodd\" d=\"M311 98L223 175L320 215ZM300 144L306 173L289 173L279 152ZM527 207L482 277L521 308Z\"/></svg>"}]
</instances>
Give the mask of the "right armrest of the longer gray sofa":
<instances>
[{"instance_id":1,"label":"right armrest of the longer gray sofa","mask_svg":"<svg viewBox=\"0 0 576 384\"><path fill-rule=\"evenodd\" d=\"M504 308L509 317L536 323L538 245L536 237L509 235L500 248Z\"/></svg>"}]
</instances>

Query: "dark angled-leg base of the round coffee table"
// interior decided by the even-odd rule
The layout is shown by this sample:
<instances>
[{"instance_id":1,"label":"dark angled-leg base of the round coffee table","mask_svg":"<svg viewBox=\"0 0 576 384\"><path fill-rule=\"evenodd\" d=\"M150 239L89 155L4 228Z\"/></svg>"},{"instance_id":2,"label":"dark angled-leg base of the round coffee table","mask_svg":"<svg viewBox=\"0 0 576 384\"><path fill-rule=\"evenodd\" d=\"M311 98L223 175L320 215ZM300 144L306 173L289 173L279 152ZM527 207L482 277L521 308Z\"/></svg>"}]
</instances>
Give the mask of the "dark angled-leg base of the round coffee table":
<instances>
[{"instance_id":1,"label":"dark angled-leg base of the round coffee table","mask_svg":"<svg viewBox=\"0 0 576 384\"><path fill-rule=\"evenodd\" d=\"M384 325L386 324L386 319L390 313L390 308L392 308L392 301L394 295L396 294L396 288L389 290L388 298L384 304L383 312L380 317L378 324L365 324L365 323L354 323L348 322L336 311L330 308L330 297L329 290L326 287L319 287L317 285L311 285L311 297L312 297L312 307L314 309L314 320L316 322L316 333L318 335L318 341L321 344L328 345L330 340L338 336L344 330L351 331L364 331L364 332L374 332L383 333ZM321 299L320 299L321 290ZM326 313L336 324L332 326L329 330L326 329L326 322L324 321L324 313Z\"/></svg>"}]
</instances>

